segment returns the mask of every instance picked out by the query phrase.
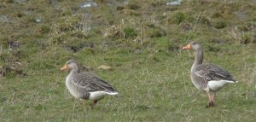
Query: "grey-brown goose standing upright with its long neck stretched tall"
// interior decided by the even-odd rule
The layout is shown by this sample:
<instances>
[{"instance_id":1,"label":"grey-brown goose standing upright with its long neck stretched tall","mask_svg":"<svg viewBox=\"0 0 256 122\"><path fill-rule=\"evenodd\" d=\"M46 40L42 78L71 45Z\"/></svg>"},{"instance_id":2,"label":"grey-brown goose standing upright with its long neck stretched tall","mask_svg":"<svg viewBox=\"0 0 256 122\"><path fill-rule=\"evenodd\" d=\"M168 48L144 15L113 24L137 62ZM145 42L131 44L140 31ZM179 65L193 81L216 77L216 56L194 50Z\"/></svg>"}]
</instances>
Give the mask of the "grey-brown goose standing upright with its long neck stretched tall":
<instances>
[{"instance_id":1,"label":"grey-brown goose standing upright with its long neck stretched tall","mask_svg":"<svg viewBox=\"0 0 256 122\"><path fill-rule=\"evenodd\" d=\"M191 67L190 78L198 90L207 91L209 99L207 107L214 107L214 96L225 84L236 83L232 75L221 67L212 64L203 64L203 49L198 42L190 42L183 49L195 52L195 61Z\"/></svg>"}]
</instances>

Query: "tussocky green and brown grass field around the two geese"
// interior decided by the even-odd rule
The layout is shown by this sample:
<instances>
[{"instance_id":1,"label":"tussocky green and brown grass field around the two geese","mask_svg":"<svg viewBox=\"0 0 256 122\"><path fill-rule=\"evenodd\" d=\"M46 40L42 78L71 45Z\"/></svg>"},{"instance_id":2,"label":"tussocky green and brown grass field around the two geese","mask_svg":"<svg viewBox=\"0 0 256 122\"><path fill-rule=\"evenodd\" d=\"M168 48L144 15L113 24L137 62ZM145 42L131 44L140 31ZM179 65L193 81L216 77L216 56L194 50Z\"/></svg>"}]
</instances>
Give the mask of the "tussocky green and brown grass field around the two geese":
<instances>
[{"instance_id":1,"label":"tussocky green and brown grass field around the two geese","mask_svg":"<svg viewBox=\"0 0 256 122\"><path fill-rule=\"evenodd\" d=\"M256 3L170 2L3 0L0 121L256 121ZM239 81L218 92L216 107L190 82L194 55L181 49L190 40ZM119 96L85 108L60 71L71 58Z\"/></svg>"}]
</instances>

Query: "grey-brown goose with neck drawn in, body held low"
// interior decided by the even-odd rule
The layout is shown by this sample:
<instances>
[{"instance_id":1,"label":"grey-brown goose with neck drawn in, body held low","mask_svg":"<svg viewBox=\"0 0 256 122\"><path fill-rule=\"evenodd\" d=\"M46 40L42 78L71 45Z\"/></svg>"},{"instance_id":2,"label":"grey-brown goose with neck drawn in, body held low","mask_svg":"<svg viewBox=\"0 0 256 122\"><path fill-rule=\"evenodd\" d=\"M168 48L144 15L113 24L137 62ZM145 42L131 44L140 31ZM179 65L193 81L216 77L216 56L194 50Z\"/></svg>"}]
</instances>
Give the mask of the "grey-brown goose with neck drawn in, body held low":
<instances>
[{"instance_id":1,"label":"grey-brown goose with neck drawn in, body held low","mask_svg":"<svg viewBox=\"0 0 256 122\"><path fill-rule=\"evenodd\" d=\"M77 61L67 61L61 67L61 71L63 70L68 70L69 72L66 78L67 90L76 98L93 100L91 107L94 107L96 102L104 96L118 95L118 92L102 78L92 73L82 72Z\"/></svg>"}]
</instances>

